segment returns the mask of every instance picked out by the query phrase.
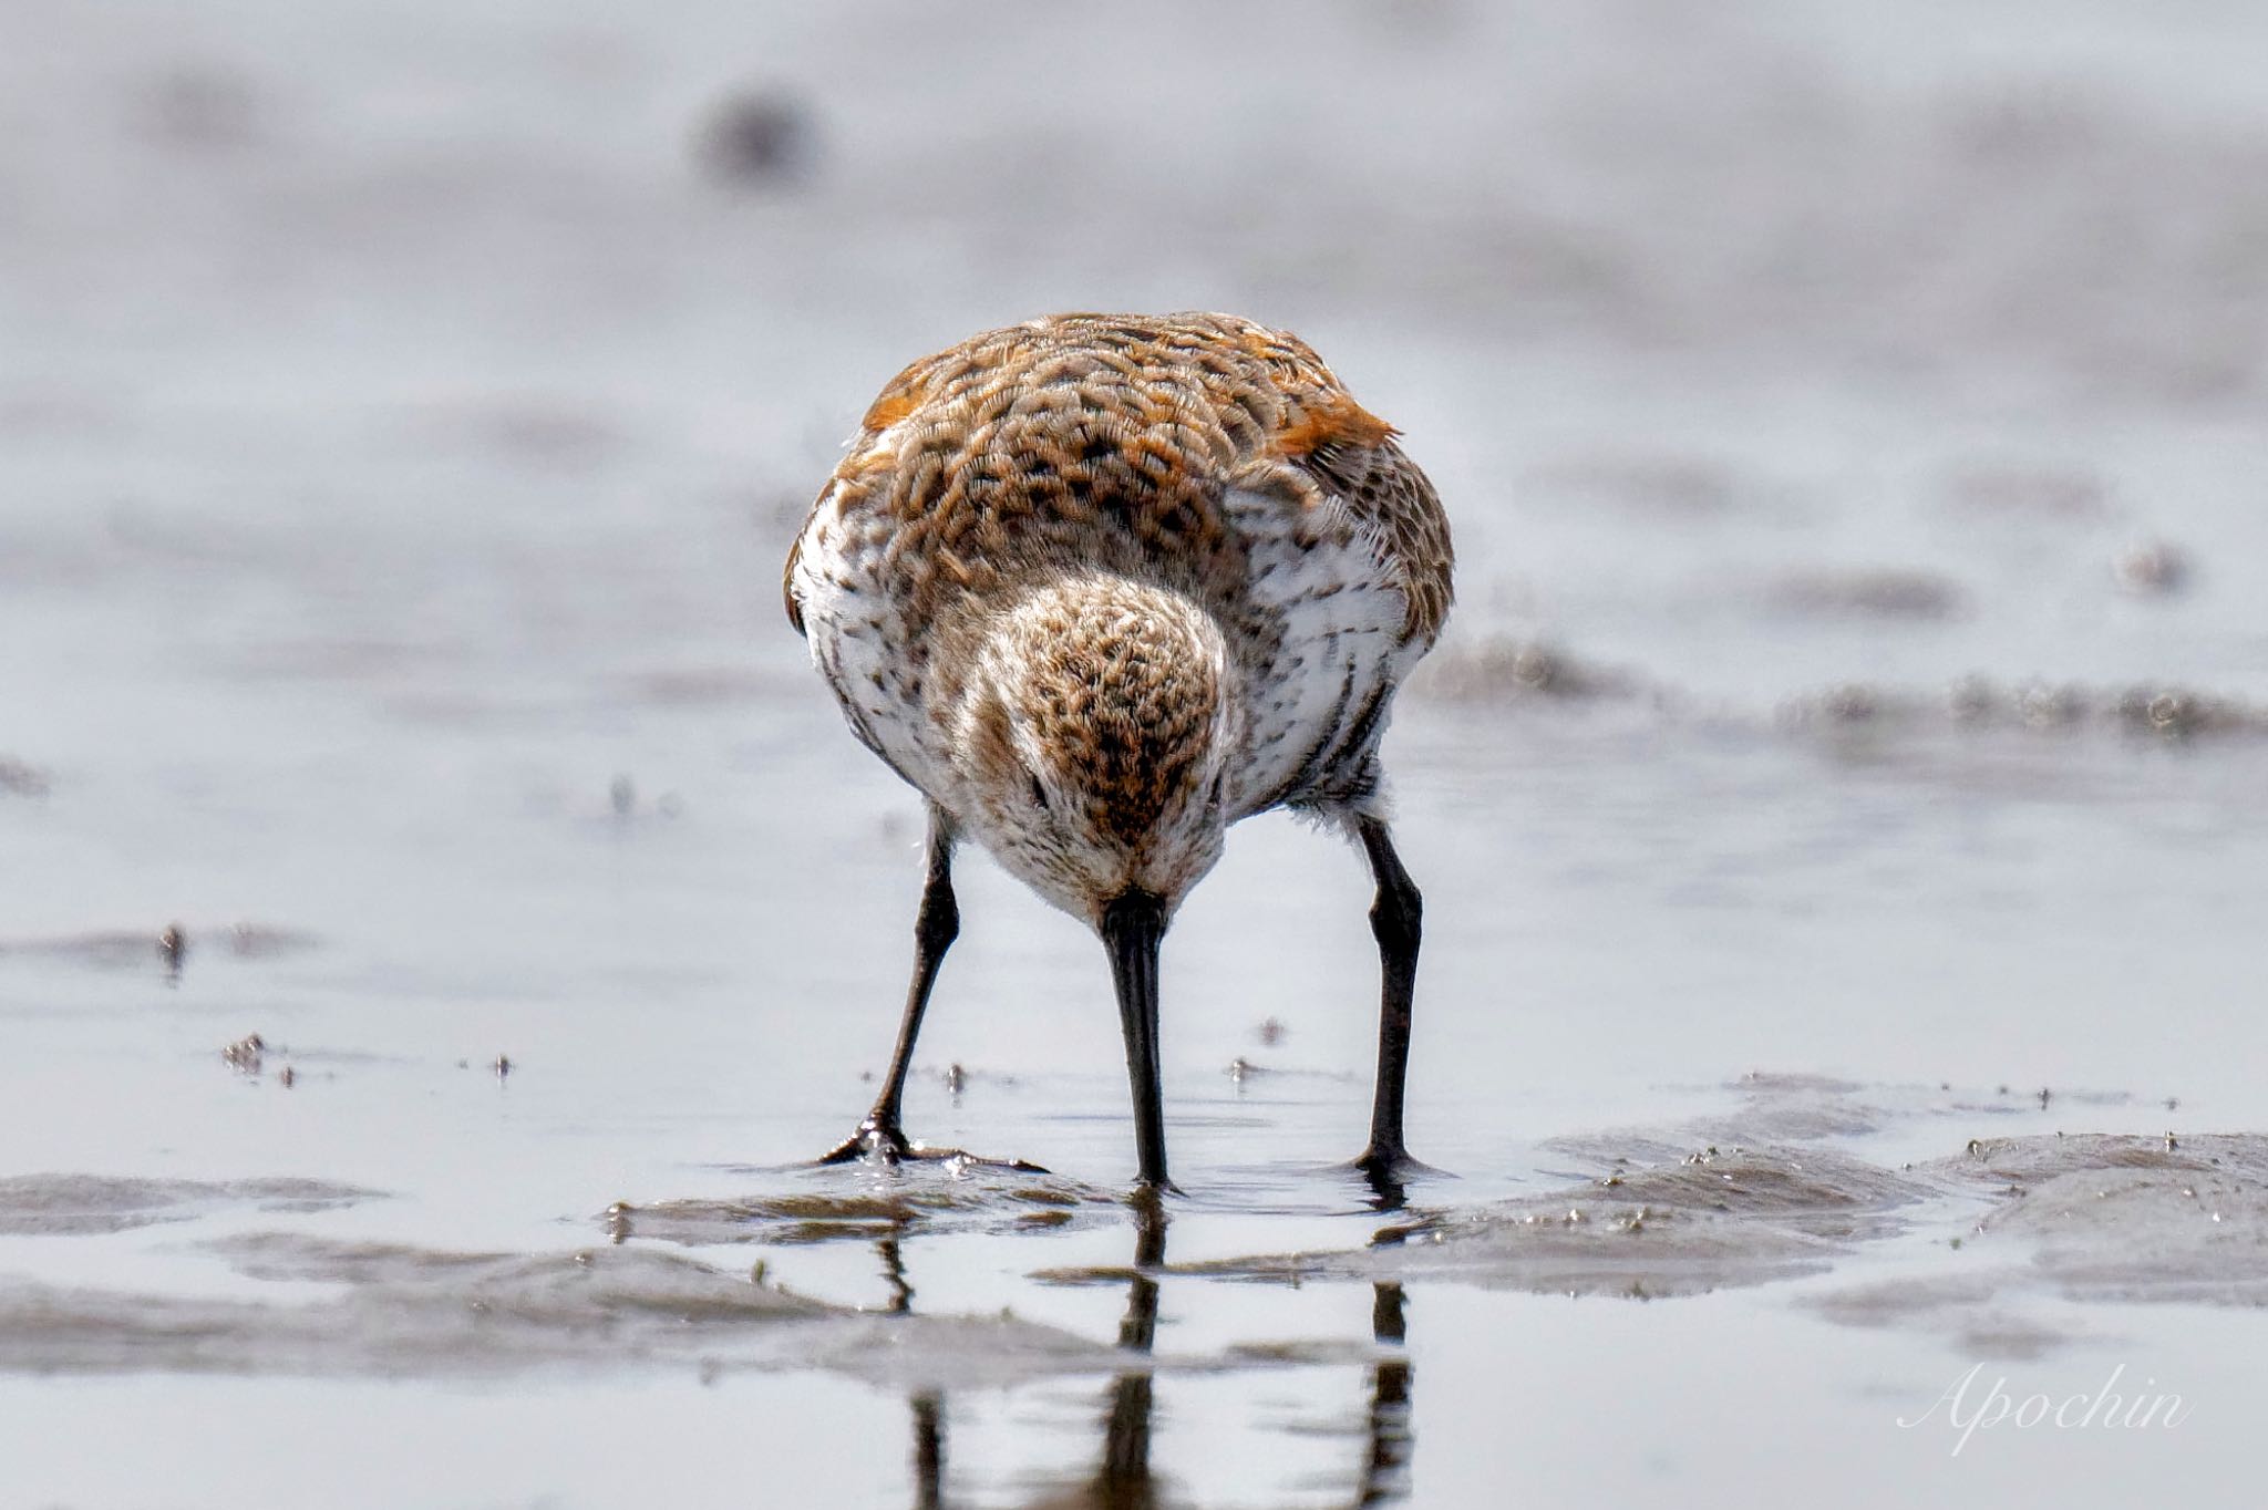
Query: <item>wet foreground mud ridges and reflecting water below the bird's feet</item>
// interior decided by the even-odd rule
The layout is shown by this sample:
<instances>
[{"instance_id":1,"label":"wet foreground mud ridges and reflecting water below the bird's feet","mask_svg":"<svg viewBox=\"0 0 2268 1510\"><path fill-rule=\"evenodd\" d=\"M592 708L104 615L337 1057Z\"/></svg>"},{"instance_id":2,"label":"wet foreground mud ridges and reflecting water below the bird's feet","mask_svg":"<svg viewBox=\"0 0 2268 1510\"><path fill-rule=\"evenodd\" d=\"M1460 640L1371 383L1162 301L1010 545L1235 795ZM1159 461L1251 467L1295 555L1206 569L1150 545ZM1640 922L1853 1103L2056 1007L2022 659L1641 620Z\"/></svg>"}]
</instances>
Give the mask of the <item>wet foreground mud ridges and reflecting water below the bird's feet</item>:
<instances>
[{"instance_id":1,"label":"wet foreground mud ridges and reflecting water below the bird's feet","mask_svg":"<svg viewBox=\"0 0 2268 1510\"><path fill-rule=\"evenodd\" d=\"M1774 1458L1783 1431L1905 1485L2073 1458L2112 1492L2243 1476L2211 1401L2250 1388L2268 1140L2055 1134L1994 1091L1810 1077L1690 1100L1690 1120L1554 1140L1397 1211L1295 1161L1163 1215L1052 1174L710 1168L678 1184L735 1195L528 1222L483 1252L318 1181L16 1179L0 1392L27 1483L66 1503L168 1503L147 1476L215 1440L225 1465L191 1483L252 1503L311 1483L338 1503L1826 1483L1817 1449ZM1234 1102L1182 1109L1229 1152ZM2091 1097L2075 1120L2121 1115L2141 1113ZM1876 1161L1971 1125L1994 1131ZM1270 1242L1295 1247L1252 1252ZM2148 1415L1964 1440L1930 1408L1978 1367L1966 1422L2000 1378L2057 1401L2109 1381L2114 1417ZM104 1449L120 1419L132 1440Z\"/></svg>"}]
</instances>

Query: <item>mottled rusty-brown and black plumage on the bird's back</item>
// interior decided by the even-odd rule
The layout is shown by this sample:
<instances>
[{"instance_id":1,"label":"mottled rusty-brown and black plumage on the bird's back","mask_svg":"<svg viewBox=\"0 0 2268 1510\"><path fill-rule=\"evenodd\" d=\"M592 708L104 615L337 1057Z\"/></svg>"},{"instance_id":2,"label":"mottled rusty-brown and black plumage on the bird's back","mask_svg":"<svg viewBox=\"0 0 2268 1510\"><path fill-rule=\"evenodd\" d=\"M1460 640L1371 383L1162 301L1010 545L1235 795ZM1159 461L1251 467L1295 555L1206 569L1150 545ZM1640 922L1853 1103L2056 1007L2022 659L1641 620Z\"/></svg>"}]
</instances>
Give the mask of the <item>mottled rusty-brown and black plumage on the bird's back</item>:
<instances>
[{"instance_id":1,"label":"mottled rusty-brown and black plumage on the bird's back","mask_svg":"<svg viewBox=\"0 0 2268 1510\"><path fill-rule=\"evenodd\" d=\"M1055 315L894 376L819 508L903 531L898 558L930 558L914 580L934 571L984 592L1034 524L1052 537L1109 510L1200 576L1234 558L1220 490L1309 510L1336 497L1383 531L1408 637L1431 644L1449 614L1449 524L1395 433L1297 336L1229 315ZM803 540L787 555L796 630L801 553ZM1234 580L1218 587L1234 596Z\"/></svg>"}]
</instances>

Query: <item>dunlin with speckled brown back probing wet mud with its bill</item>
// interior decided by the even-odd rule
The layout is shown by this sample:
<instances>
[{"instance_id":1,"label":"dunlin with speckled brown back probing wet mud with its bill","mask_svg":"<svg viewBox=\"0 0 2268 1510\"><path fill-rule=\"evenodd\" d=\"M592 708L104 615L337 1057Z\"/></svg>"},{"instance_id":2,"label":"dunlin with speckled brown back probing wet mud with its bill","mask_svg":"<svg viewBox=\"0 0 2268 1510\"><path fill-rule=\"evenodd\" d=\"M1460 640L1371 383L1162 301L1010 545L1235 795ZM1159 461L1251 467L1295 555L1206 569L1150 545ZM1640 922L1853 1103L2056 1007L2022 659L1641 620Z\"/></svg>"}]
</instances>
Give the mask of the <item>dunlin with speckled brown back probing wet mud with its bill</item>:
<instances>
[{"instance_id":1,"label":"dunlin with speckled brown back probing wet mud with its bill","mask_svg":"<svg viewBox=\"0 0 2268 1510\"><path fill-rule=\"evenodd\" d=\"M900 1100L982 843L1102 939L1141 1184L1168 1186L1157 957L1227 828L1352 834L1383 966L1372 1181L1402 1138L1420 898L1379 739L1449 612L1449 524L1306 342L1229 315L1052 315L900 372L787 558L787 617L860 741L928 800L914 982L828 1161L914 1159Z\"/></svg>"}]
</instances>

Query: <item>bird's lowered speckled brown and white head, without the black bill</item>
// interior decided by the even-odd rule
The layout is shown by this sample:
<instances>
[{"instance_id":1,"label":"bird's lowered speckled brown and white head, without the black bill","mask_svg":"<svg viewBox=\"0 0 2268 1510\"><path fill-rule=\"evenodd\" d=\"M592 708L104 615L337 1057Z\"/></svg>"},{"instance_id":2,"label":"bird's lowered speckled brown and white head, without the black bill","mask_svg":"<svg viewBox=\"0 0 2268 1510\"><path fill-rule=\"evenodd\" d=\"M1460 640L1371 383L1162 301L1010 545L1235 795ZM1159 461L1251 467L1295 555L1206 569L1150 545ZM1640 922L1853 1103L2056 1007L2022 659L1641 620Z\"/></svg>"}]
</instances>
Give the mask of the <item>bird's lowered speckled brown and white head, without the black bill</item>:
<instances>
[{"instance_id":1,"label":"bird's lowered speckled brown and white head, without the black bill","mask_svg":"<svg viewBox=\"0 0 2268 1510\"><path fill-rule=\"evenodd\" d=\"M1229 676L1220 628L1175 592L1080 576L1018 599L953 714L957 816L1098 932L1125 898L1163 927L1220 859L1243 735Z\"/></svg>"}]
</instances>

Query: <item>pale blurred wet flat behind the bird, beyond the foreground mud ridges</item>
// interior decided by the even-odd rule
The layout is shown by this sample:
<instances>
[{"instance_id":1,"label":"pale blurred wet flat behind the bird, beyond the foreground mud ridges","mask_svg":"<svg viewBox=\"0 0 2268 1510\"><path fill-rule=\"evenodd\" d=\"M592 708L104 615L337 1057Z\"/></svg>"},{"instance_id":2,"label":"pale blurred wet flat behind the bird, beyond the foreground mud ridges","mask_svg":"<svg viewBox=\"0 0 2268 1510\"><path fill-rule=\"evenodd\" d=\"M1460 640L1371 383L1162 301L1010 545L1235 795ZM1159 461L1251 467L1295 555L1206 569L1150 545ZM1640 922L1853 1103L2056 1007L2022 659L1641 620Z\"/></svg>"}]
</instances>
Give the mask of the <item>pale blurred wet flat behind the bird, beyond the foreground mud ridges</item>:
<instances>
[{"instance_id":1,"label":"pale blurred wet flat behind the bird, beyond the foreground mud ridges","mask_svg":"<svg viewBox=\"0 0 2268 1510\"><path fill-rule=\"evenodd\" d=\"M1449 503L1422 1156L1758 1066L2257 1125L2263 61L2241 0L0 0L0 1145L558 1242L848 1131L919 812L778 565L891 372L1064 308L1302 333ZM1093 941L962 896L914 1131L1118 1179ZM1354 1150L1365 905L1238 834L1177 1095L1268 1018L1343 1079L1179 1168Z\"/></svg>"}]
</instances>

